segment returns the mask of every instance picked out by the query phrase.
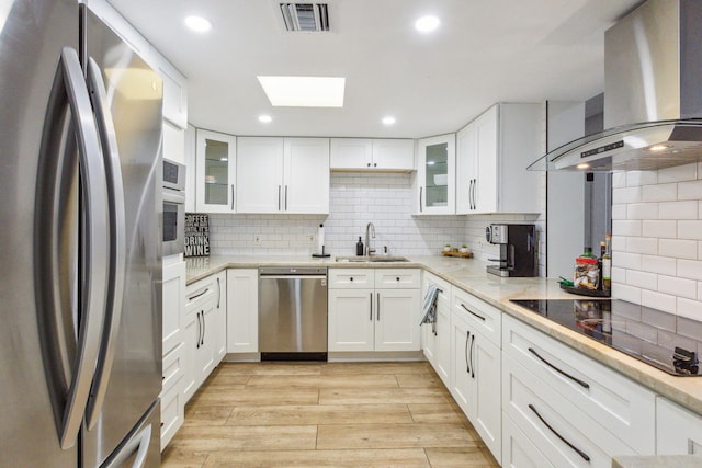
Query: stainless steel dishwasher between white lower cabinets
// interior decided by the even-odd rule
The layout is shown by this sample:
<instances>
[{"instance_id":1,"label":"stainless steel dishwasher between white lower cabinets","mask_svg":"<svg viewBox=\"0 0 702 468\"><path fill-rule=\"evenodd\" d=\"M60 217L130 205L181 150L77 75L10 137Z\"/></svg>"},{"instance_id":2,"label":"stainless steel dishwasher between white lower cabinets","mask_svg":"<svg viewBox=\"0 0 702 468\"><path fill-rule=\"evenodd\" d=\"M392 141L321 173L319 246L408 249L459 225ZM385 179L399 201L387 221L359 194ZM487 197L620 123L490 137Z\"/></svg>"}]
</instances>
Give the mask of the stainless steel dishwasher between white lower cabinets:
<instances>
[{"instance_id":1,"label":"stainless steel dishwasher between white lower cabinets","mask_svg":"<svg viewBox=\"0 0 702 468\"><path fill-rule=\"evenodd\" d=\"M259 269L261 361L327 361L327 269Z\"/></svg>"}]
</instances>

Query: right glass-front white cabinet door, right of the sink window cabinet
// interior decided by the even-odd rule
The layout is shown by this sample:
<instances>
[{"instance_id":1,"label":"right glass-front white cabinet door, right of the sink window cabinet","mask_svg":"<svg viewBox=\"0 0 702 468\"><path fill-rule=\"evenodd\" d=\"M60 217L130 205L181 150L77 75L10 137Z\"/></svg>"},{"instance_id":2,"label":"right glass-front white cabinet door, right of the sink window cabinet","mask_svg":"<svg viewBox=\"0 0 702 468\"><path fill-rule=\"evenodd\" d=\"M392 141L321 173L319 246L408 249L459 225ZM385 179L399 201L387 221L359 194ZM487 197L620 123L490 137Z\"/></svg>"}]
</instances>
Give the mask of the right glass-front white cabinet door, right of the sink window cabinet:
<instances>
[{"instance_id":1,"label":"right glass-front white cabinet door, right of the sink window cabinet","mask_svg":"<svg viewBox=\"0 0 702 468\"><path fill-rule=\"evenodd\" d=\"M418 141L418 215L455 213L455 134Z\"/></svg>"}]
</instances>

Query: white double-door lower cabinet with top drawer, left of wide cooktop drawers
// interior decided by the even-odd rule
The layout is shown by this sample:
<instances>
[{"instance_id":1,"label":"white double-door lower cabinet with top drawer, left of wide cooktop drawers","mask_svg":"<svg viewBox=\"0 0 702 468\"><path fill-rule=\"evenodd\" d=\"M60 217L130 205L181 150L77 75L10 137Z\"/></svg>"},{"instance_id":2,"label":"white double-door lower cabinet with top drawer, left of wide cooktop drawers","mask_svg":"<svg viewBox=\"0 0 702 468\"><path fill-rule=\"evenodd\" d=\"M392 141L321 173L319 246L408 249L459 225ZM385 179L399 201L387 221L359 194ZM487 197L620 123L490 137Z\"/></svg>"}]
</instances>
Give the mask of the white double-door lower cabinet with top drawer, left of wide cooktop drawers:
<instances>
[{"instance_id":1,"label":"white double-door lower cabinet with top drawer, left of wide cooktop drawers","mask_svg":"<svg viewBox=\"0 0 702 468\"><path fill-rule=\"evenodd\" d=\"M502 452L501 351L499 334L486 333L485 329L489 323L499 330L501 312L457 288L453 289L452 296L449 389L499 463Z\"/></svg>"}]
</instances>

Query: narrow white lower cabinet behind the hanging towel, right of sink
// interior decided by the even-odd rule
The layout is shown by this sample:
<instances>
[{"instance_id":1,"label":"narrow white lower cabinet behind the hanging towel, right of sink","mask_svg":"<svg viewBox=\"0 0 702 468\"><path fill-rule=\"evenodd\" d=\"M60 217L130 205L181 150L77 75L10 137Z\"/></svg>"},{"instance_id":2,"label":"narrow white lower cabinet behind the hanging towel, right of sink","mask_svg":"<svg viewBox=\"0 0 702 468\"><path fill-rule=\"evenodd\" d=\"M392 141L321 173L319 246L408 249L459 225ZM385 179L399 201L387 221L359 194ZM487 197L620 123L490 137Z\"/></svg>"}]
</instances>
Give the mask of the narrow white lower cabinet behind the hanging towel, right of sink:
<instances>
[{"instance_id":1,"label":"narrow white lower cabinet behind the hanging towel, right of sink","mask_svg":"<svg viewBox=\"0 0 702 468\"><path fill-rule=\"evenodd\" d=\"M437 295L437 313L434 323L422 324L424 356L446 387L450 387L451 375L451 290L450 283L424 272L422 297L427 295L429 285L433 284ZM423 300L422 300L423 304Z\"/></svg>"}]
</instances>

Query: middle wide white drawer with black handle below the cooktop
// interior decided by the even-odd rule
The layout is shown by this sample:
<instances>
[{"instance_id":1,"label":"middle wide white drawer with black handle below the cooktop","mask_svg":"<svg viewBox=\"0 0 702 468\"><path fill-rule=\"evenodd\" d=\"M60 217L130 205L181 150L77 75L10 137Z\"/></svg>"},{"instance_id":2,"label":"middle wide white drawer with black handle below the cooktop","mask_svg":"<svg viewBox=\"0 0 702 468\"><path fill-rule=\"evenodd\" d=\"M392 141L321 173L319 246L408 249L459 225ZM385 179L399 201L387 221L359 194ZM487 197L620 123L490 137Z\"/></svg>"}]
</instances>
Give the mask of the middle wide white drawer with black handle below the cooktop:
<instances>
[{"instance_id":1,"label":"middle wide white drawer with black handle below the cooktop","mask_svg":"<svg viewBox=\"0 0 702 468\"><path fill-rule=\"evenodd\" d=\"M511 357L503 357L502 409L556 467L609 467L636 450ZM618 433L620 436L625 434Z\"/></svg>"}]
</instances>

